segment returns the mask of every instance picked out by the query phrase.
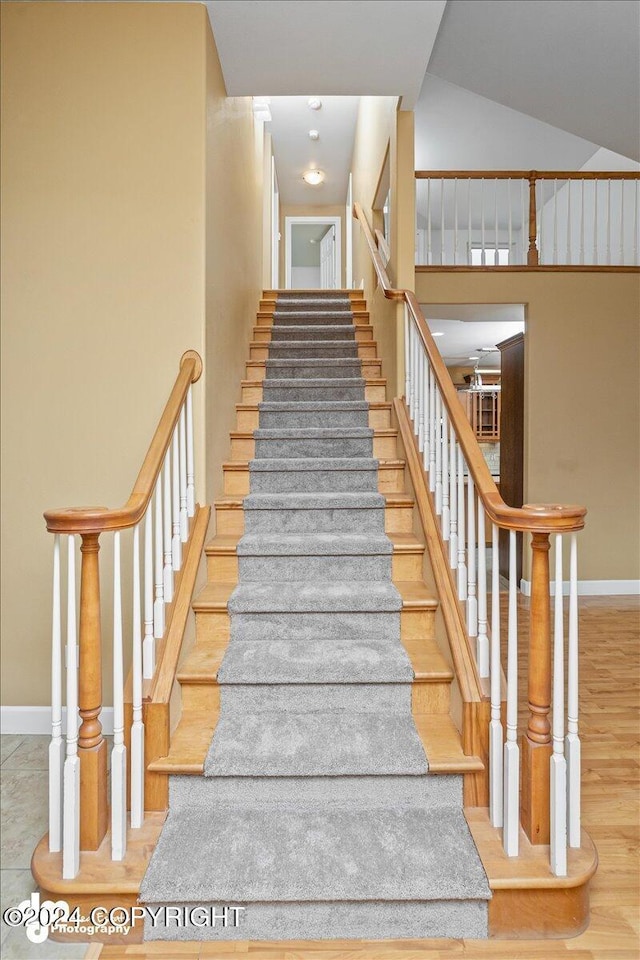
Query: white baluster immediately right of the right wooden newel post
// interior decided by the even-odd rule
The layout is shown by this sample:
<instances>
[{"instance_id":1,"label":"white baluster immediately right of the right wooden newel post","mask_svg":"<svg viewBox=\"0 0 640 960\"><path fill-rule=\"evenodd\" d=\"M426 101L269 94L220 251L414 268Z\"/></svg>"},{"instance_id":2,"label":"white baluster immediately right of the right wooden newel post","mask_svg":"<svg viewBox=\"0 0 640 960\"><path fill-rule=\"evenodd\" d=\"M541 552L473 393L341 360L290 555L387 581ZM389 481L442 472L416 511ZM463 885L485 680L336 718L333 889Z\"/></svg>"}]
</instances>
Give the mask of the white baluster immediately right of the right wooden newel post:
<instances>
[{"instance_id":1,"label":"white baluster immediately right of the right wooden newel post","mask_svg":"<svg viewBox=\"0 0 640 960\"><path fill-rule=\"evenodd\" d=\"M562 535L555 536L556 595L553 630L553 753L550 771L550 859L556 877L567 875L567 761L564 758L564 623Z\"/></svg>"}]
</instances>

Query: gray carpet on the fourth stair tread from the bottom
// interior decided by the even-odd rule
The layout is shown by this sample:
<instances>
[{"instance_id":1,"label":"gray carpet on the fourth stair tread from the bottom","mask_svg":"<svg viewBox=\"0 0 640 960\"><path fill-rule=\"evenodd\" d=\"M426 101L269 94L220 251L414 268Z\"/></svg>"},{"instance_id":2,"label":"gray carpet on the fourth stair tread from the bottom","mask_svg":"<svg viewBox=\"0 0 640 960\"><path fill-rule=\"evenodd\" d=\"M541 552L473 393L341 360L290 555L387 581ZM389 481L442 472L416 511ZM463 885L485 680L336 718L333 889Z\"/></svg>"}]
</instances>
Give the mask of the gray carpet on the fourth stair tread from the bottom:
<instances>
[{"instance_id":1,"label":"gray carpet on the fourth stair tread from the bottom","mask_svg":"<svg viewBox=\"0 0 640 960\"><path fill-rule=\"evenodd\" d=\"M287 581L239 583L229 613L370 613L402 609L392 583L383 581Z\"/></svg>"}]
</instances>

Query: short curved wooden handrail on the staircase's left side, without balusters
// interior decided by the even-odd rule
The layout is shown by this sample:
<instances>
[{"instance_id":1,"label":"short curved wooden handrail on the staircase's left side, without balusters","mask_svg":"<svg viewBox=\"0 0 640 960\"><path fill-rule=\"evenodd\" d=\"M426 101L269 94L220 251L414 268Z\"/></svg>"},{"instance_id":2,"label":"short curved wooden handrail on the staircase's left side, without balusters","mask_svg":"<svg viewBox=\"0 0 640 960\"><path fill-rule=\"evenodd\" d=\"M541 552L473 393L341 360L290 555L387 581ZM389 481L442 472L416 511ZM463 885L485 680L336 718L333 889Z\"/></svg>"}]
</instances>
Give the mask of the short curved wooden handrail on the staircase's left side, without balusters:
<instances>
[{"instance_id":1,"label":"short curved wooden handrail on the staircase's left side, without balusters","mask_svg":"<svg viewBox=\"0 0 640 960\"><path fill-rule=\"evenodd\" d=\"M162 468L173 430L192 383L202 374L202 358L196 350L187 350L180 359L180 372L164 408L160 422L144 458L129 499L122 507L68 507L47 510L44 518L50 533L100 534L105 530L126 530L142 520L158 474Z\"/></svg>"}]
</instances>

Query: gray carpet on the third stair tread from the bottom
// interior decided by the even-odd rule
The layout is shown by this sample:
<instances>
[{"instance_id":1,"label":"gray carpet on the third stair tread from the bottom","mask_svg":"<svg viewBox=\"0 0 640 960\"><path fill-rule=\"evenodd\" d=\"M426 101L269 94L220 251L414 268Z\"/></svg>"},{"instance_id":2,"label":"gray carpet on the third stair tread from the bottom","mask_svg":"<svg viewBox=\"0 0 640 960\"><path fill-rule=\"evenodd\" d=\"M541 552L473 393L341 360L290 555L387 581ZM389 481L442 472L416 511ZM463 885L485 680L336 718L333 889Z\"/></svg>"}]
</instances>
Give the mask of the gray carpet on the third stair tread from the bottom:
<instances>
[{"instance_id":1,"label":"gray carpet on the third stair tread from the bottom","mask_svg":"<svg viewBox=\"0 0 640 960\"><path fill-rule=\"evenodd\" d=\"M322 637L229 644L218 683L407 683L414 678L401 644Z\"/></svg>"}]
</instances>

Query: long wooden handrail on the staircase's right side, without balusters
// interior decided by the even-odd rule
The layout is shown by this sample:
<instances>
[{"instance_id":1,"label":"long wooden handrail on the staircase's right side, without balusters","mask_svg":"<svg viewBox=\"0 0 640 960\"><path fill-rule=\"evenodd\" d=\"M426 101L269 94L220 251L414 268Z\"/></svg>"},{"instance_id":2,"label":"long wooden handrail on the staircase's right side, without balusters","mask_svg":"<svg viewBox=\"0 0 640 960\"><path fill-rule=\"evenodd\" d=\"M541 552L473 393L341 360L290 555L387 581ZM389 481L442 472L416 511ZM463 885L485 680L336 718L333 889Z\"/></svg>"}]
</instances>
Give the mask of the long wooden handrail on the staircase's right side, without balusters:
<instances>
[{"instance_id":1,"label":"long wooden handrail on the staircase's right side, without balusters","mask_svg":"<svg viewBox=\"0 0 640 960\"><path fill-rule=\"evenodd\" d=\"M384 296L387 300L404 302L413 316L420 339L438 381L442 399L454 424L465 461L489 519L504 530L528 533L568 533L582 530L587 512L585 507L559 504L526 504L523 507L510 507L504 502L480 452L471 424L462 409L453 382L431 336L415 293L412 290L400 290L391 286L364 211L359 203L354 203L353 210L354 216L359 220L364 233Z\"/></svg>"}]
</instances>

